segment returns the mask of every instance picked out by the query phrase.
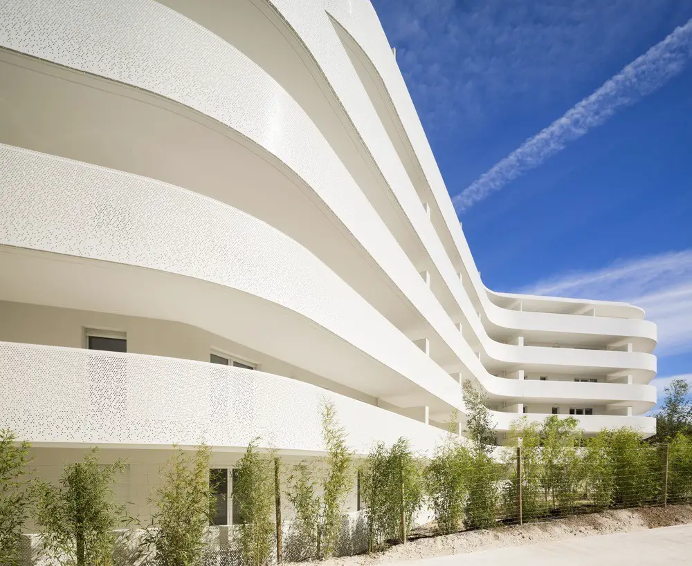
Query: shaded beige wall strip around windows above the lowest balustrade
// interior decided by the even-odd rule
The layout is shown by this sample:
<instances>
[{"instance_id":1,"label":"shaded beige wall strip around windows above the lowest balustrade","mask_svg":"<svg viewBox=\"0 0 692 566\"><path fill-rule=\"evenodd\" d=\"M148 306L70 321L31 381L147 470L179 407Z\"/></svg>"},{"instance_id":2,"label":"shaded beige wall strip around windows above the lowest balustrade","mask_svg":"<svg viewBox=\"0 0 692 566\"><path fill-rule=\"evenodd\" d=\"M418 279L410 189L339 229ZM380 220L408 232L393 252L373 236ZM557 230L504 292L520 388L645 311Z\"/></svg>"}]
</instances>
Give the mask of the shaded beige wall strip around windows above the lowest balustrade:
<instances>
[{"instance_id":1,"label":"shaded beige wall strip around windows above the lowest balustrade","mask_svg":"<svg viewBox=\"0 0 692 566\"><path fill-rule=\"evenodd\" d=\"M233 312L229 312L228 317L233 319ZM370 395L187 324L0 301L0 341L84 348L86 328L125 332L127 352L132 354L209 361L212 350L220 350L257 364L258 370L293 377L335 393L376 404L376 399Z\"/></svg>"}]
</instances>

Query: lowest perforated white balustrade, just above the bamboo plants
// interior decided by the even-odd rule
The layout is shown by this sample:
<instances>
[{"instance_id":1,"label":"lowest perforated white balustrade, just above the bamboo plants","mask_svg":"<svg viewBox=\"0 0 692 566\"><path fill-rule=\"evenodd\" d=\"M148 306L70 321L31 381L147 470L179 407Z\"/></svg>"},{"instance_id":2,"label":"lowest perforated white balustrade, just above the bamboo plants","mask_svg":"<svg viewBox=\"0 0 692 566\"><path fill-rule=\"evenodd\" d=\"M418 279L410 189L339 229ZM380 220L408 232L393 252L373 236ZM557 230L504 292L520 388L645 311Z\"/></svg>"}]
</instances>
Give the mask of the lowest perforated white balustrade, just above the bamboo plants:
<instances>
[{"instance_id":1,"label":"lowest perforated white balustrade, just above the bamboo plants","mask_svg":"<svg viewBox=\"0 0 692 566\"><path fill-rule=\"evenodd\" d=\"M32 442L322 450L322 399L358 452L403 436L430 453L446 433L356 399L255 370L159 356L0 342L0 428Z\"/></svg>"}]
</instances>

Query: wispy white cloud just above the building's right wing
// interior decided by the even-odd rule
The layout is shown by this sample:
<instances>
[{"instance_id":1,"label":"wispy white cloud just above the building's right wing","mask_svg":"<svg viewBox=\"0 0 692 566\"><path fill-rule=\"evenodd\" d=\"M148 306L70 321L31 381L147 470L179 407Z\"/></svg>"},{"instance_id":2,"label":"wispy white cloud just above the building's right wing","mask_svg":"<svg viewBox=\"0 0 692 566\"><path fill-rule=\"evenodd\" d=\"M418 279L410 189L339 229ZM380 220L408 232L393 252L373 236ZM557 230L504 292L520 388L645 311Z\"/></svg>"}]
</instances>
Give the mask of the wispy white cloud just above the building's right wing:
<instances>
[{"instance_id":1,"label":"wispy white cloud just above the building's right wing","mask_svg":"<svg viewBox=\"0 0 692 566\"><path fill-rule=\"evenodd\" d=\"M559 274L520 292L635 304L658 326L658 355L692 352L692 249Z\"/></svg>"}]
</instances>

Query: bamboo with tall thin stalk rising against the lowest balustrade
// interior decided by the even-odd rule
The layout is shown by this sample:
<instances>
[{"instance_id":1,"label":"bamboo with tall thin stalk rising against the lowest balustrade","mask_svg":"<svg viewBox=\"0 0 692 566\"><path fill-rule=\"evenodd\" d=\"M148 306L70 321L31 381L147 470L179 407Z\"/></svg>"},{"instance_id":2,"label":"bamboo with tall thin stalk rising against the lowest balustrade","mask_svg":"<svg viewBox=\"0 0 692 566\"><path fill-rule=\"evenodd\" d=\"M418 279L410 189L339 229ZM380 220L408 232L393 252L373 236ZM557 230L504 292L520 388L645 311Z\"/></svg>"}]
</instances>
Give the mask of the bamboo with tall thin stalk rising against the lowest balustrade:
<instances>
[{"instance_id":1,"label":"bamboo with tall thin stalk rising against the lowest balustrade","mask_svg":"<svg viewBox=\"0 0 692 566\"><path fill-rule=\"evenodd\" d=\"M287 497L295 510L293 536L300 538L305 557L334 554L346 498L354 482L353 455L336 409L322 404L322 440L326 457L318 466L302 462L289 477Z\"/></svg>"}]
</instances>

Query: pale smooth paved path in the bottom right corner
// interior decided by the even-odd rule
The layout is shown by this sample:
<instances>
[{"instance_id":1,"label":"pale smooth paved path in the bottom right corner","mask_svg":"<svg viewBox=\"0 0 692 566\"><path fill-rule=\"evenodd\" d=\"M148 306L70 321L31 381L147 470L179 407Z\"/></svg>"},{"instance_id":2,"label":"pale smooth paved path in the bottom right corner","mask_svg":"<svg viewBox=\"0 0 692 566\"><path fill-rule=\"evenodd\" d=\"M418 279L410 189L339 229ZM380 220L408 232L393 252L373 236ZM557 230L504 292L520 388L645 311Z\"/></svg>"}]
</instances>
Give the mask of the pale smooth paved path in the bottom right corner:
<instances>
[{"instance_id":1,"label":"pale smooth paved path in the bottom right corner","mask_svg":"<svg viewBox=\"0 0 692 566\"><path fill-rule=\"evenodd\" d=\"M402 566L692 566L692 525L555 540L455 556L400 563Z\"/></svg>"}]
</instances>

